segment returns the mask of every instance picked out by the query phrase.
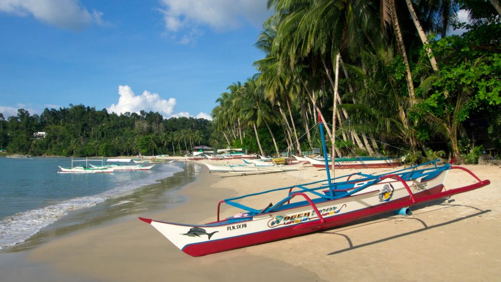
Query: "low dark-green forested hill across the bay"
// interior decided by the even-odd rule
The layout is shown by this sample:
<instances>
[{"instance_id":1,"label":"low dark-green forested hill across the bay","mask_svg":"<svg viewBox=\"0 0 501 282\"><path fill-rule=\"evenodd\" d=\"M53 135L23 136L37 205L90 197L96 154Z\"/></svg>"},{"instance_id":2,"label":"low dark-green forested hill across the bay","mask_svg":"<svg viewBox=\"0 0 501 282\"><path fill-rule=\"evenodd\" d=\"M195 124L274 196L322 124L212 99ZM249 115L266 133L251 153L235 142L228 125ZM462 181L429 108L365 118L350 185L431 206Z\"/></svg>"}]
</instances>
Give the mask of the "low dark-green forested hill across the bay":
<instances>
[{"instance_id":1,"label":"low dark-green forested hill across the bay","mask_svg":"<svg viewBox=\"0 0 501 282\"><path fill-rule=\"evenodd\" d=\"M45 132L45 135L36 134ZM72 105L31 115L0 113L0 149L33 156L182 155L192 146L208 144L211 122L203 118L171 117L158 112L126 112ZM180 152L183 151L183 152Z\"/></svg>"}]
</instances>

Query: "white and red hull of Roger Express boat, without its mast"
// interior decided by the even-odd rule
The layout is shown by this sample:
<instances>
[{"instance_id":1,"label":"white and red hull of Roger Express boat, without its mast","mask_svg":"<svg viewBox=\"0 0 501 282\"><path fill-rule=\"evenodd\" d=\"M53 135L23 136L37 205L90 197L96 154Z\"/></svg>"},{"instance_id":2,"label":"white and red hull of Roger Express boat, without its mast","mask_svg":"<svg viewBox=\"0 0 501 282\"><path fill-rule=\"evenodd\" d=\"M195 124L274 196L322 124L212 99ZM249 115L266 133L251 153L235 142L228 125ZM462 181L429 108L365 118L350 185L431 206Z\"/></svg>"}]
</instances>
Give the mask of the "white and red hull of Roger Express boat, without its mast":
<instances>
[{"instance_id":1,"label":"white and red hull of Roger Express boat, without its mast","mask_svg":"<svg viewBox=\"0 0 501 282\"><path fill-rule=\"evenodd\" d=\"M467 192L490 183L475 177L478 180L475 184L444 190L443 182L447 172L448 170L437 170L414 179L410 178L412 172L409 172L409 180L405 181L399 176L387 175L346 182L344 191L356 193L332 200L319 198L312 201L302 192L289 192L292 197L285 198L284 201L295 196L303 196L306 201L276 205L283 209L274 210L272 207L272 210L265 209L262 213L237 215L204 225L140 219L150 223L183 252L201 256L332 228L372 215ZM405 177L404 174L400 176ZM366 188L359 191L357 187ZM328 190L324 193L327 195L333 192Z\"/></svg>"}]
</instances>

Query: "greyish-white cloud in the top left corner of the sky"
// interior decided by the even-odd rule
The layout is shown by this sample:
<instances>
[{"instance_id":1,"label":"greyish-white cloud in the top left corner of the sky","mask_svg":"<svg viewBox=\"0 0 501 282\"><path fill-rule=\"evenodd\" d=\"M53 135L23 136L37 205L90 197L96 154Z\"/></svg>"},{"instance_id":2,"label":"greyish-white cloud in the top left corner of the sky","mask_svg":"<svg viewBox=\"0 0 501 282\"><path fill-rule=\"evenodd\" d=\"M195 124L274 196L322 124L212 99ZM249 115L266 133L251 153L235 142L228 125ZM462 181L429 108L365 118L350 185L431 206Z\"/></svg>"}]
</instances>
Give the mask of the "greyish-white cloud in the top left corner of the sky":
<instances>
[{"instance_id":1,"label":"greyish-white cloud in the top left corner of the sky","mask_svg":"<svg viewBox=\"0 0 501 282\"><path fill-rule=\"evenodd\" d=\"M0 12L21 17L33 15L42 22L75 31L91 23L107 25L102 20L103 13L89 13L80 0L1 0Z\"/></svg>"}]
</instances>

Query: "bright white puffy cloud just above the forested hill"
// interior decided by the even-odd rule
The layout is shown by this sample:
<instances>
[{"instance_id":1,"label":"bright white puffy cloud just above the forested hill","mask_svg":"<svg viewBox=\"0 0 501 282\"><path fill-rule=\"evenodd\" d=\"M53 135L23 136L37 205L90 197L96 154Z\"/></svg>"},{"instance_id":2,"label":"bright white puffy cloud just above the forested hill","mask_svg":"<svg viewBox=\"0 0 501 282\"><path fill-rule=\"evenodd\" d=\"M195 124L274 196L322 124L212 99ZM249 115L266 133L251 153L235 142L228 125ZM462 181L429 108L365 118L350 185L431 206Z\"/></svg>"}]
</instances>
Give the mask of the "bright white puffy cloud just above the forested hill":
<instances>
[{"instance_id":1,"label":"bright white puffy cloud just above the forested hill","mask_svg":"<svg viewBox=\"0 0 501 282\"><path fill-rule=\"evenodd\" d=\"M168 100L163 99L157 93L151 93L149 91L144 91L141 95L134 95L132 89L125 86L118 86L118 103L112 104L107 110L109 112L116 112L121 114L124 112L139 112L141 110L145 111L157 111L163 116L171 116L176 105L176 99L169 98Z\"/></svg>"}]
</instances>

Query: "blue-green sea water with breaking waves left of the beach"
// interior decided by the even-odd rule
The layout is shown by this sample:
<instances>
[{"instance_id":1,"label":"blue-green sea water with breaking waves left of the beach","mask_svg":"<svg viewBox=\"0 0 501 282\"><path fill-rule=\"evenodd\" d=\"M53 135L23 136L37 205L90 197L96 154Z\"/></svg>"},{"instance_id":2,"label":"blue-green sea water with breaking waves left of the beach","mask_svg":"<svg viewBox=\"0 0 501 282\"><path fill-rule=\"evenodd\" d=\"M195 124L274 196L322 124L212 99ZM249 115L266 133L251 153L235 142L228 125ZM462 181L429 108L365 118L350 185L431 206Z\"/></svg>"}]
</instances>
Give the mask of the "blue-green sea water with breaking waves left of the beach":
<instances>
[{"instance_id":1,"label":"blue-green sea water with breaking waves left of the beach","mask_svg":"<svg viewBox=\"0 0 501 282\"><path fill-rule=\"evenodd\" d=\"M155 202L152 198L160 201L157 208L165 202L181 201L179 197L160 195L169 186L192 181L188 178L196 173L193 167L187 171L180 162L157 164L149 171L91 174L58 173L58 166L71 167L71 159L0 158L0 249L24 242L50 226L99 223L100 219L110 218L110 213L116 218L147 210ZM175 183L167 181L156 191L138 192L176 173L186 175Z\"/></svg>"}]
</instances>

